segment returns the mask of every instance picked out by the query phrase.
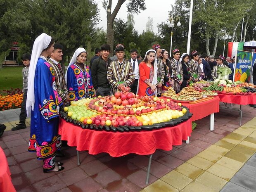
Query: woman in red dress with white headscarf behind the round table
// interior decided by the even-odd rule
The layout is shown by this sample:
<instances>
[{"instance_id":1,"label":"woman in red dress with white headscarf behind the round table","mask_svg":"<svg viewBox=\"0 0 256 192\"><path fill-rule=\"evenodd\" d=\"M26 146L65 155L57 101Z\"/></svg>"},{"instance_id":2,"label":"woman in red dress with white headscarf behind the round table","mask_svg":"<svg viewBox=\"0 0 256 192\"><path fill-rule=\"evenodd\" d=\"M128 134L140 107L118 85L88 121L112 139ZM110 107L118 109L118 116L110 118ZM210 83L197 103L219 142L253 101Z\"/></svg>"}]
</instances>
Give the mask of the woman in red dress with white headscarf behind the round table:
<instances>
[{"instance_id":1,"label":"woman in red dress with white headscarf behind the round table","mask_svg":"<svg viewBox=\"0 0 256 192\"><path fill-rule=\"evenodd\" d=\"M157 62L156 51L148 50L146 52L143 62L139 65L140 79L138 85L137 95L140 96L153 96L157 95Z\"/></svg>"}]
</instances>

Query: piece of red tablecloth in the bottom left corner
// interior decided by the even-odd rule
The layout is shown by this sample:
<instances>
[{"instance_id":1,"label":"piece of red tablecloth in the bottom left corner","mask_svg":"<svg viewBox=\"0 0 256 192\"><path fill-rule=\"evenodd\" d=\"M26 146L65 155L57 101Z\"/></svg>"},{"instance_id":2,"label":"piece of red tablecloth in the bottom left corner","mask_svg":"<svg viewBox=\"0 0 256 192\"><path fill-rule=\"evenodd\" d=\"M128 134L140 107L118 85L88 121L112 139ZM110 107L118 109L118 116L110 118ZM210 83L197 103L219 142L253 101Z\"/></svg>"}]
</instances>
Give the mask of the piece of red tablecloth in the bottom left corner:
<instances>
[{"instance_id":1,"label":"piece of red tablecloth in the bottom left corner","mask_svg":"<svg viewBox=\"0 0 256 192\"><path fill-rule=\"evenodd\" d=\"M16 192L12 185L11 172L8 167L5 153L0 147L0 192Z\"/></svg>"}]
</instances>

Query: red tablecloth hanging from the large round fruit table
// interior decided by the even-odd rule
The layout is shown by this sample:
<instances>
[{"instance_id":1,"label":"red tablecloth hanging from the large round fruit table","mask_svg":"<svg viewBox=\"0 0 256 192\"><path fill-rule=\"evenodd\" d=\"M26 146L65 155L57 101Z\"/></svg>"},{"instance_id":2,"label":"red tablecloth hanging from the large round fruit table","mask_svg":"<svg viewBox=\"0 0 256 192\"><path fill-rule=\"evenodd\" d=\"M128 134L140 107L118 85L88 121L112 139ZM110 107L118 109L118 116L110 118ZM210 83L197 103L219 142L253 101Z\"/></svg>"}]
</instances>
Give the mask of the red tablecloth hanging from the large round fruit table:
<instances>
[{"instance_id":1,"label":"red tablecloth hanging from the large round fruit table","mask_svg":"<svg viewBox=\"0 0 256 192\"><path fill-rule=\"evenodd\" d=\"M169 151L173 145L182 145L191 132L191 118L173 127L128 133L82 129L62 118L59 122L59 134L69 146L76 146L78 151L88 150L90 154L106 152L113 157L130 153L148 155L156 149Z\"/></svg>"}]
</instances>

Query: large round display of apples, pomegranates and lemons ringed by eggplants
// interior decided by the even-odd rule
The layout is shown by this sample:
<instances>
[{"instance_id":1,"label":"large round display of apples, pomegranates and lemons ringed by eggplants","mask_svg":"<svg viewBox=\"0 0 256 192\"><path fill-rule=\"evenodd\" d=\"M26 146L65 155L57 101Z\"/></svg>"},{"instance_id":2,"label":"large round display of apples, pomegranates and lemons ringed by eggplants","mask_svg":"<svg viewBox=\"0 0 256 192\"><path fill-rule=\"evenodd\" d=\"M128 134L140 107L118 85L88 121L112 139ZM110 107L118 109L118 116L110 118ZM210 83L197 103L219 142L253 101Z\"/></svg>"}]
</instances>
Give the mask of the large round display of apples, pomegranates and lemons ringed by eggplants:
<instances>
[{"instance_id":1,"label":"large round display of apples, pomegranates and lemons ringed by eggplants","mask_svg":"<svg viewBox=\"0 0 256 192\"><path fill-rule=\"evenodd\" d=\"M124 91L71 102L62 107L60 116L83 129L128 132L174 126L192 114L170 99L140 97Z\"/></svg>"}]
</instances>

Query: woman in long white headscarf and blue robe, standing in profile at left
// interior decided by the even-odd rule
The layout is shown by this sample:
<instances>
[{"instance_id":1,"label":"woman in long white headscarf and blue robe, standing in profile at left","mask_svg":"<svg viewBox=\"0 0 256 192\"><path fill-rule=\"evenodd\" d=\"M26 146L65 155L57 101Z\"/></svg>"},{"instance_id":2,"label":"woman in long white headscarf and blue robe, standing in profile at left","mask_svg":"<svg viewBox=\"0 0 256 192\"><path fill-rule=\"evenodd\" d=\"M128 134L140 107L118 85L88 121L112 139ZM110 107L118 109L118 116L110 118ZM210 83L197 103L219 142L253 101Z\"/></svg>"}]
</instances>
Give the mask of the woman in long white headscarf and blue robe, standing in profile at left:
<instances>
[{"instance_id":1,"label":"woman in long white headscarf and blue robe, standing in profile at left","mask_svg":"<svg viewBox=\"0 0 256 192\"><path fill-rule=\"evenodd\" d=\"M45 33L36 38L31 54L28 72L28 97L26 110L31 114L31 133L28 145L29 152L36 152L38 159L43 159L43 172L57 172L64 169L55 164L55 154L61 147L58 135L59 97L55 73L46 58L52 54L53 39Z\"/></svg>"}]
</instances>

